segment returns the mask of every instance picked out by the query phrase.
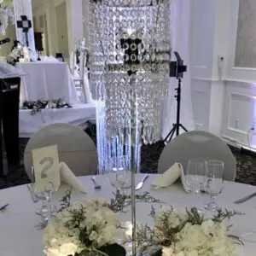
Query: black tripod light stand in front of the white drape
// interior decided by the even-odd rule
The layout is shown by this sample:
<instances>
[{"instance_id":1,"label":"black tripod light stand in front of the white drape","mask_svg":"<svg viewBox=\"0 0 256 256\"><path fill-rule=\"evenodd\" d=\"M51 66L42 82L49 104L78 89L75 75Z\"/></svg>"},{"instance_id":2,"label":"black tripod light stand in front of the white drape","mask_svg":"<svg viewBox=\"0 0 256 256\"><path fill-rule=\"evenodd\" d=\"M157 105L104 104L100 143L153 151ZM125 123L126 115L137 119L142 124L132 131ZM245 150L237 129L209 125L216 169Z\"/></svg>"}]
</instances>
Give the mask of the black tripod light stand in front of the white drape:
<instances>
[{"instance_id":1,"label":"black tripod light stand in front of the white drape","mask_svg":"<svg viewBox=\"0 0 256 256\"><path fill-rule=\"evenodd\" d=\"M166 138L164 139L164 143L169 143L172 140L174 134L178 136L180 128L183 129L183 131L188 131L180 122L181 83L183 79L183 73L187 71L187 66L183 65L183 60L181 59L177 51L174 51L174 55L176 56L177 61L170 62L170 77L177 79L177 88L175 89L177 92L177 95L175 96L177 100L177 115L176 123L173 124L172 130L167 134Z\"/></svg>"}]
</instances>

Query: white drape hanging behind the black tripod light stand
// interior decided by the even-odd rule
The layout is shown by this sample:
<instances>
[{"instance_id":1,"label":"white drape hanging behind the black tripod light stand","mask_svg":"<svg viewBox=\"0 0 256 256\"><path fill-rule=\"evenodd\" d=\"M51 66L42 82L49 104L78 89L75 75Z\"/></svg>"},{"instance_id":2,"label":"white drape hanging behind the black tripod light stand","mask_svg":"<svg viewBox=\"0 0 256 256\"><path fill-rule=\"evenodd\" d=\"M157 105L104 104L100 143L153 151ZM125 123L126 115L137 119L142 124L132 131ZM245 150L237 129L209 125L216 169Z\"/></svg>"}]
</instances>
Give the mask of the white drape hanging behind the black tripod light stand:
<instances>
[{"instance_id":1,"label":"white drape hanging behind the black tripod light stand","mask_svg":"<svg viewBox=\"0 0 256 256\"><path fill-rule=\"evenodd\" d=\"M188 66L188 71L184 73L182 82L182 100L181 100L181 123L189 130L195 129L195 120L193 115L191 90L190 90L190 27L191 27L191 0L172 0L171 4L171 35L172 51L177 51L184 60L184 65ZM172 60L175 56L172 54ZM163 104L161 135L166 137L172 129L172 124L176 123L177 101L175 88L177 79L170 79L169 95ZM183 130L180 130L183 132Z\"/></svg>"}]
</instances>

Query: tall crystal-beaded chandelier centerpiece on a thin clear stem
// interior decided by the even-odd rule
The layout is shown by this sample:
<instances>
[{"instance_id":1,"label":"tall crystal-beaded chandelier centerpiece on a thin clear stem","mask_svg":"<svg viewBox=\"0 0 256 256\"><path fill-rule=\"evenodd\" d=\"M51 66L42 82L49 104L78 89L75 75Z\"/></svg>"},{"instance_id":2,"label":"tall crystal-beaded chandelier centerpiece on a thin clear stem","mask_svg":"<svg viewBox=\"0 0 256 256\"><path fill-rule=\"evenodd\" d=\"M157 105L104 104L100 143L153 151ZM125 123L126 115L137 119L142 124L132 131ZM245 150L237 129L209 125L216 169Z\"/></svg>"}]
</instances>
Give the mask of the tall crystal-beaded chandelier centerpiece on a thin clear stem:
<instances>
[{"instance_id":1,"label":"tall crystal-beaded chandelier centerpiece on a thin clear stem","mask_svg":"<svg viewBox=\"0 0 256 256\"><path fill-rule=\"evenodd\" d=\"M141 144L160 139L160 105L170 72L170 15L170 0L90 0L90 90L98 102L98 168L108 173L130 162L133 255L135 173Z\"/></svg>"}]
</instances>

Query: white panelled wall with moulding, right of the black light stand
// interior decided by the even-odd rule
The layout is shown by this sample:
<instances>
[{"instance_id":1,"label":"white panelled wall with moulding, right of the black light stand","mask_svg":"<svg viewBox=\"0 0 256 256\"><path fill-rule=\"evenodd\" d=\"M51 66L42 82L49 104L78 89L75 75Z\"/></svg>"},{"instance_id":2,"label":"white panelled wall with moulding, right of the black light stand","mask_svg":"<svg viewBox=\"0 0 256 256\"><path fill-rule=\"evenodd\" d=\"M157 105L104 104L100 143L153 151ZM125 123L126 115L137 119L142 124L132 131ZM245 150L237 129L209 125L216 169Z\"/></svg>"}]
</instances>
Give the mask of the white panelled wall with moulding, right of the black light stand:
<instances>
[{"instance_id":1,"label":"white panelled wall with moulding, right of the black light stand","mask_svg":"<svg viewBox=\"0 0 256 256\"><path fill-rule=\"evenodd\" d=\"M235 145L256 148L256 134L247 137L256 119L256 69L234 67L239 0L192 1L191 87L196 128ZM222 79L218 55L224 56Z\"/></svg>"}]
</instances>

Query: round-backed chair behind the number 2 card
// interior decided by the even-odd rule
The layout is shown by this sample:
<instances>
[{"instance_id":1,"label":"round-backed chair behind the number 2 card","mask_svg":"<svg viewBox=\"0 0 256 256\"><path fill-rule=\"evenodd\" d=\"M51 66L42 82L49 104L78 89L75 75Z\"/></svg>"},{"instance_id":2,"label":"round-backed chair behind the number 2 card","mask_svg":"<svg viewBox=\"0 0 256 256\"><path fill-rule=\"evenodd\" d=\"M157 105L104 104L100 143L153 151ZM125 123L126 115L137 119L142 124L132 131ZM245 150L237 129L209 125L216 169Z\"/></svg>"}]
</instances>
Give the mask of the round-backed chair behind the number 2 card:
<instances>
[{"instance_id":1,"label":"round-backed chair behind the number 2 card","mask_svg":"<svg viewBox=\"0 0 256 256\"><path fill-rule=\"evenodd\" d=\"M65 162L75 176L94 175L97 169L95 143L74 125L48 125L30 138L24 153L27 175L32 177L32 149L58 145L59 160Z\"/></svg>"}]
</instances>

